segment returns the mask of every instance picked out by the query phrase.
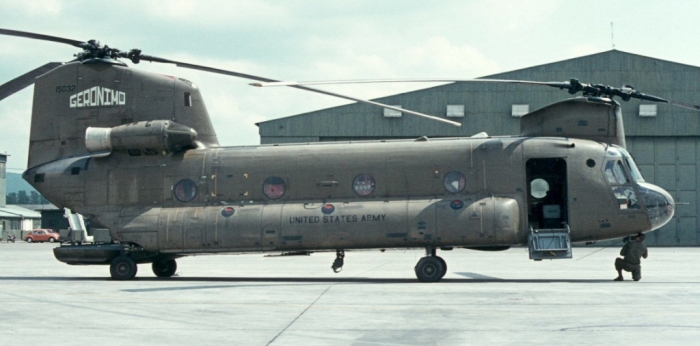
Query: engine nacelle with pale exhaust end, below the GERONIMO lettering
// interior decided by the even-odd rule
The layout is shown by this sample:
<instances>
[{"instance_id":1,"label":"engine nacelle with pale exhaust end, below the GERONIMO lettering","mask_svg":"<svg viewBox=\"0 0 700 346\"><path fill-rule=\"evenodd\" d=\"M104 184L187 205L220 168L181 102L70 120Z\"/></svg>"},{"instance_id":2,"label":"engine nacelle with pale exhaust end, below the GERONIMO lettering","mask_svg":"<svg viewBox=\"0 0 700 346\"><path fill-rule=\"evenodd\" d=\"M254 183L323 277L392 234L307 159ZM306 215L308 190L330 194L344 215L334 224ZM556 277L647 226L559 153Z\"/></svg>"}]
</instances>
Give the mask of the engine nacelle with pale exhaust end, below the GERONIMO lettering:
<instances>
[{"instance_id":1,"label":"engine nacelle with pale exhaust end, below the GERONIMO lettering","mask_svg":"<svg viewBox=\"0 0 700 346\"><path fill-rule=\"evenodd\" d=\"M133 150L146 153L173 152L196 148L197 131L170 120L140 121L116 127L88 127L88 151Z\"/></svg>"}]
</instances>

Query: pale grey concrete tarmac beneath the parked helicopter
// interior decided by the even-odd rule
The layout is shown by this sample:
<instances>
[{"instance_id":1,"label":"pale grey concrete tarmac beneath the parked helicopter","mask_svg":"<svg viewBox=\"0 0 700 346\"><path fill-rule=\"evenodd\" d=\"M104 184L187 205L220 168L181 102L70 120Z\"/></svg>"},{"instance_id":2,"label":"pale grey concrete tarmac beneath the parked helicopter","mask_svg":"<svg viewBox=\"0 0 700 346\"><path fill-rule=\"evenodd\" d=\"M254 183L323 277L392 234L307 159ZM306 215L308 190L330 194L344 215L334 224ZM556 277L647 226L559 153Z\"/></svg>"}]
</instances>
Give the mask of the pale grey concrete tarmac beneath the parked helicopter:
<instances>
[{"instance_id":1,"label":"pale grey concrete tarmac beneath the parked helicopter","mask_svg":"<svg viewBox=\"0 0 700 346\"><path fill-rule=\"evenodd\" d=\"M140 265L69 266L54 244L0 243L0 345L695 345L700 249L651 248L642 281L613 282L619 247L534 262L524 248L196 256L170 279Z\"/></svg>"}]
</instances>

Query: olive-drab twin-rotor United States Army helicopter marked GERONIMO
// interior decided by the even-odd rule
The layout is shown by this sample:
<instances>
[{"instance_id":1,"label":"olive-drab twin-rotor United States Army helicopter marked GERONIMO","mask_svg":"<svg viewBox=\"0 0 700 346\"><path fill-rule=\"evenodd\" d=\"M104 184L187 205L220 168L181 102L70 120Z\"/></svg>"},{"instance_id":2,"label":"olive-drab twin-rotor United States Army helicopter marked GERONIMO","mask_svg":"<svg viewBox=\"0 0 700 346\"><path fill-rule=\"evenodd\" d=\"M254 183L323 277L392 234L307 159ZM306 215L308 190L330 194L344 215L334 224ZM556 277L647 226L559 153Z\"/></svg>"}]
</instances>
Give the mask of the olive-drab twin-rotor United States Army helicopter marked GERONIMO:
<instances>
[{"instance_id":1,"label":"olive-drab twin-rotor United States Army helicopter marked GERONIMO","mask_svg":"<svg viewBox=\"0 0 700 346\"><path fill-rule=\"evenodd\" d=\"M83 49L73 61L0 86L0 99L34 83L24 179L111 235L106 243L62 244L56 258L109 265L117 280L132 279L145 263L170 277L177 258L202 253L336 251L338 271L345 250L425 248L415 265L423 282L447 271L438 249L526 245L531 259L571 258L572 242L648 232L673 217L669 193L644 182L625 150L620 105L612 98L698 109L629 86L575 79L469 80L583 96L523 116L520 134L510 137L223 147L194 84L119 59L392 107L306 86L312 82L280 83L96 41L0 34Z\"/></svg>"}]
</instances>

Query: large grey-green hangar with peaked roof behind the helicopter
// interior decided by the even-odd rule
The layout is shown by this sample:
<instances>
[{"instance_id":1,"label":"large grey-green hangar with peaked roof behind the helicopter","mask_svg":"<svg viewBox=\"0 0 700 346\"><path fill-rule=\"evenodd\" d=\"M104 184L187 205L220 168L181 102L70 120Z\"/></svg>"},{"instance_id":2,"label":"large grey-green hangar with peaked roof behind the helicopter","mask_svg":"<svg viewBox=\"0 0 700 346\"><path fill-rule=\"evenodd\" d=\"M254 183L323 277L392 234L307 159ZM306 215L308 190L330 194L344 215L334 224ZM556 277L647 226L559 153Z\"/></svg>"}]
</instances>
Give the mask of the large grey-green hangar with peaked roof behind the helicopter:
<instances>
[{"instance_id":1,"label":"large grey-green hangar with peaked roof behind the helicopter","mask_svg":"<svg viewBox=\"0 0 700 346\"><path fill-rule=\"evenodd\" d=\"M622 86L670 100L700 104L700 67L610 50L570 60L484 76L492 79L567 81ZM466 137L479 132L517 135L519 117L566 99L565 91L545 86L456 82L378 98L375 101L446 117L450 126L365 104L322 109L257 124L260 143L355 141L428 137ZM658 246L700 245L700 114L649 101L622 105L627 149L644 179L669 191L674 219L647 237Z\"/></svg>"}]
</instances>

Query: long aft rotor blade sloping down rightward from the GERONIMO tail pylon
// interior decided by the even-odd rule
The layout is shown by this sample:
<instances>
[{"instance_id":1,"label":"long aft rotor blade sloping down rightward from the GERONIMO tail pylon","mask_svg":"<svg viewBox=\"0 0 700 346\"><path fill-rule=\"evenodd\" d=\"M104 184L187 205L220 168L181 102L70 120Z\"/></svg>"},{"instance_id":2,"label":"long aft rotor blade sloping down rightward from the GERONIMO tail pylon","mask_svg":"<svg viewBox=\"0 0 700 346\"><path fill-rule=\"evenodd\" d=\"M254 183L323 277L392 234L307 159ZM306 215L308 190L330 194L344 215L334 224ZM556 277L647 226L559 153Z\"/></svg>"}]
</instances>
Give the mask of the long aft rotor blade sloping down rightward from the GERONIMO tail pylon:
<instances>
[{"instance_id":1,"label":"long aft rotor blade sloping down rightward from the GERONIMO tail pylon","mask_svg":"<svg viewBox=\"0 0 700 346\"><path fill-rule=\"evenodd\" d=\"M202 66L202 65L195 65L195 64L190 64L190 63L185 63L185 62L180 62L180 61L175 61L175 60L169 60L169 59L158 58L158 57L149 56L149 55L140 55L139 58L140 58L140 60L143 60L143 61L152 61L152 62L162 62L162 63L175 64L175 66L178 66L178 67L189 68L189 69L193 69L193 70L199 70L199 71L205 71L205 72L211 72L211 73L218 73L218 74L223 74L223 75L227 75L227 76L234 76L234 77L252 79L252 80L260 81L260 82L263 82L263 83L275 83L275 82L280 82L280 81L275 80L275 79L270 79L270 78L265 78L265 77L250 75L250 74L246 74L246 73L240 73L240 72L235 72L235 71L222 70L222 69L213 68L213 67L208 67L208 66ZM365 104L369 104L369 105L373 105L373 106L377 106L377 107L388 108L388 109L395 110L395 111L402 112L402 113L413 114L413 115L416 115L416 116L419 116L419 117L423 117L423 118L427 118L427 119L431 119L431 120L437 120L437 121L440 121L440 122L443 122L443 123L447 123L447 124L450 124L450 125L454 125L454 126L462 126L462 124L460 124L460 123L458 123L458 122L454 122L454 121L447 120L447 119L442 119L442 118L439 118L439 117L436 117L436 116L432 116L432 115L428 115L428 114L423 114L423 113L420 113L420 112L415 112L415 111L412 111L412 110L409 110L409 109L404 109L404 108L394 107L394 106L390 106L390 105L385 105L385 104L379 103L379 102L374 102L374 101L359 99L359 98L356 98L356 97L352 97L352 96L348 96L348 95L343 95L343 94L338 94L338 93L334 93L334 92L330 92L330 91L325 91L325 90L319 90L319 89L309 88L309 87L302 86L302 85L288 85L288 86L289 86L289 87L292 87L292 88L297 88L297 89L301 89L301 90L311 91L311 92L315 92L315 93L319 93L319 94L324 94L324 95L329 95L329 96L333 96L333 97L338 97L338 98L342 98L342 99L346 99L346 100L351 100L351 101L355 101L355 102L365 103Z\"/></svg>"}]
</instances>

